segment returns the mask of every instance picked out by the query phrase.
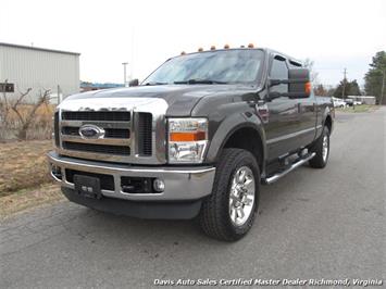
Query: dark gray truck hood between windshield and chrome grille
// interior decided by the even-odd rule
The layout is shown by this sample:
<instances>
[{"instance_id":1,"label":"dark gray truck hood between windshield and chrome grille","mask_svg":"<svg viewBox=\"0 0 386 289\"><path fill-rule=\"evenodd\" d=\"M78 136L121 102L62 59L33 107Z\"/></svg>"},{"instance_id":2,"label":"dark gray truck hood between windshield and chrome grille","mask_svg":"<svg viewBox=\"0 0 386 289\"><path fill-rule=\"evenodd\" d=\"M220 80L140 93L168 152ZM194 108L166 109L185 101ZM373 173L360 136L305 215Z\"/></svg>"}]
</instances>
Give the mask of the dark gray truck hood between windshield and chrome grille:
<instances>
[{"instance_id":1,"label":"dark gray truck hood between windshield and chrome grille","mask_svg":"<svg viewBox=\"0 0 386 289\"><path fill-rule=\"evenodd\" d=\"M98 91L89 91L73 95L63 101L63 104L73 100L89 99L119 99L119 98L135 98L135 99L163 99L169 108L166 115L188 116L197 102L209 95L221 93L224 91L234 90L239 85L162 85L162 86L138 86L117 89L105 89ZM67 103L69 104L69 103ZM139 104L139 103L138 103Z\"/></svg>"}]
</instances>

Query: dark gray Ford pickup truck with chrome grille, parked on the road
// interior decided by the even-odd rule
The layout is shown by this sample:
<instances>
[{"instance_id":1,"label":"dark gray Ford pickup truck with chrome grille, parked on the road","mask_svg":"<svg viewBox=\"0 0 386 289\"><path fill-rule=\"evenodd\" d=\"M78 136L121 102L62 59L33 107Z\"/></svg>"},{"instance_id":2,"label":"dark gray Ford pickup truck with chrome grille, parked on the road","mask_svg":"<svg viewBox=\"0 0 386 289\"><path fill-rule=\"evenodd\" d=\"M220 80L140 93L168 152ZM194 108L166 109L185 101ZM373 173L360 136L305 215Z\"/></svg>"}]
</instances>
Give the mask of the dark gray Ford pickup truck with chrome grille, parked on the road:
<instances>
[{"instance_id":1,"label":"dark gray Ford pickup truck with chrome grille, parked on the road","mask_svg":"<svg viewBox=\"0 0 386 289\"><path fill-rule=\"evenodd\" d=\"M309 74L270 49L225 48L169 59L137 87L71 96L54 114L50 174L70 201L198 216L209 236L237 240L261 184L327 163L334 108Z\"/></svg>"}]
</instances>

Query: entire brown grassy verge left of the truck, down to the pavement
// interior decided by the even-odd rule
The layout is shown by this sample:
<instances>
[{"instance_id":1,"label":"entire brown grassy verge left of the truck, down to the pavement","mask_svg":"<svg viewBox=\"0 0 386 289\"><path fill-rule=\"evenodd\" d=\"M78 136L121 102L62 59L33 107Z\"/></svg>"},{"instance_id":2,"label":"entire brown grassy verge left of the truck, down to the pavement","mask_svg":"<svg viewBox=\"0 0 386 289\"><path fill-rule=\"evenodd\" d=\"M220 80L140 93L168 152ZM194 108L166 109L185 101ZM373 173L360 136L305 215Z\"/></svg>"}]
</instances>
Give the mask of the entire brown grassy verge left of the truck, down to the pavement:
<instances>
[{"instance_id":1,"label":"entire brown grassy verge left of the truck, down to the pavement","mask_svg":"<svg viewBox=\"0 0 386 289\"><path fill-rule=\"evenodd\" d=\"M0 219L64 200L48 176L46 153L52 140L0 143Z\"/></svg>"}]
</instances>

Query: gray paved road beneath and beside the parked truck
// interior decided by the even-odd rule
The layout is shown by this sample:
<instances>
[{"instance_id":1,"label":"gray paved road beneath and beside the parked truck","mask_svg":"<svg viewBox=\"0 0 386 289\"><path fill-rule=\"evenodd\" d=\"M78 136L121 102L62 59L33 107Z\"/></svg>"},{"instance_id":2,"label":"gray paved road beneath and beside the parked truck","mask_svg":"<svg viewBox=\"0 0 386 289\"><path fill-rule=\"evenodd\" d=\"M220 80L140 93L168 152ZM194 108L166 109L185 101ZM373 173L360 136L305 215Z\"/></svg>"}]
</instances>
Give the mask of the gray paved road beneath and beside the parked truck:
<instances>
[{"instance_id":1,"label":"gray paved road beneath and beside the parked truck","mask_svg":"<svg viewBox=\"0 0 386 289\"><path fill-rule=\"evenodd\" d=\"M263 187L236 243L190 222L139 221L62 202L1 225L0 288L150 287L154 278L385 279L386 110L340 114L325 169Z\"/></svg>"}]
</instances>

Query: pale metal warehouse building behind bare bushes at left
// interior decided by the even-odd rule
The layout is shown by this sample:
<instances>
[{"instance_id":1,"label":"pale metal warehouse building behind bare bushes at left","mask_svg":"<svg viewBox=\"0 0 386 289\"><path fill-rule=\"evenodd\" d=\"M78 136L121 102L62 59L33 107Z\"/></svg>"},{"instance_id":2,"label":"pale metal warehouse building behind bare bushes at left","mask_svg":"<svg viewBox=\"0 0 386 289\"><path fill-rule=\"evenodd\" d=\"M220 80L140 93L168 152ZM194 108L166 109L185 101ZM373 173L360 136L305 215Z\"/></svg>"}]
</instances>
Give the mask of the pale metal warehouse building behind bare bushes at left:
<instances>
[{"instance_id":1,"label":"pale metal warehouse building behind bare bushes at left","mask_svg":"<svg viewBox=\"0 0 386 289\"><path fill-rule=\"evenodd\" d=\"M33 90L26 99L35 101L39 91L50 89L60 98L79 91L79 53L0 42L0 83L14 85L10 98ZM58 93L59 91L59 93ZM57 102L53 100L52 102Z\"/></svg>"}]
</instances>

